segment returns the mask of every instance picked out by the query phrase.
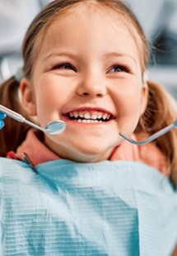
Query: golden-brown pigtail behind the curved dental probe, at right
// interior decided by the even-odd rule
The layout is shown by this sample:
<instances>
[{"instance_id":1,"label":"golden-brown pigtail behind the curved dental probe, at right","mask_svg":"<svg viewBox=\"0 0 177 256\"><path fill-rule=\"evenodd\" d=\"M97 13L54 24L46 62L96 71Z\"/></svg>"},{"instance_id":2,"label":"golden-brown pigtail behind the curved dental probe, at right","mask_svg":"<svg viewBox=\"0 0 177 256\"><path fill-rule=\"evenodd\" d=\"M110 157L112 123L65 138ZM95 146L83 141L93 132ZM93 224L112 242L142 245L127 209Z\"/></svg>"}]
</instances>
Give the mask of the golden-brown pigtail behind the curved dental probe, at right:
<instances>
[{"instance_id":1,"label":"golden-brown pigtail behind the curved dental probe, at right","mask_svg":"<svg viewBox=\"0 0 177 256\"><path fill-rule=\"evenodd\" d=\"M147 109L140 118L136 133L152 135L165 126L169 126L177 119L175 100L166 92L165 88L153 81L147 82L149 96ZM173 129L154 141L167 159L167 172L170 179L177 184L177 130Z\"/></svg>"}]
</instances>

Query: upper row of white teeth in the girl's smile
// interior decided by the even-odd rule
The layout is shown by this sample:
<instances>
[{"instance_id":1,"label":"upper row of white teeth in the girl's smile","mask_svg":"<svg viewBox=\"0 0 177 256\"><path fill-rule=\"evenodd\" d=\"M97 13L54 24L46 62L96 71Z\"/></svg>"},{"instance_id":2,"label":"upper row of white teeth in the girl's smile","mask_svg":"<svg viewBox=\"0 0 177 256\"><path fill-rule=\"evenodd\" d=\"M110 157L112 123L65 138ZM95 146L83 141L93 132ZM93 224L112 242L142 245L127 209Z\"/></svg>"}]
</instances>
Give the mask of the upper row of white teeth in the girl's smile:
<instances>
[{"instance_id":1,"label":"upper row of white teeth in the girl's smile","mask_svg":"<svg viewBox=\"0 0 177 256\"><path fill-rule=\"evenodd\" d=\"M69 116L71 117L81 117L84 119L92 119L92 120L96 120L96 119L104 119L104 120L108 120L110 115L108 113L104 113L104 112L100 112L100 111L94 111L93 113L90 113L88 111L73 111L69 113Z\"/></svg>"}]
</instances>

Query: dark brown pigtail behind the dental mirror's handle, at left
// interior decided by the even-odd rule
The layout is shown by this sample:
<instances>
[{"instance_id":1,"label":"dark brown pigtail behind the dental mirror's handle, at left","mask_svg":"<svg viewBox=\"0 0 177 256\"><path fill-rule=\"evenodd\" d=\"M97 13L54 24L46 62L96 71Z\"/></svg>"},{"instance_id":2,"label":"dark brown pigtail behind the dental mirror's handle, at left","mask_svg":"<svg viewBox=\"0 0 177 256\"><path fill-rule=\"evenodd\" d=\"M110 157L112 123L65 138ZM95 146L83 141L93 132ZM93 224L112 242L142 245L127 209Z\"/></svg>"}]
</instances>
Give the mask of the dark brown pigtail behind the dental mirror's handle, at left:
<instances>
[{"instance_id":1,"label":"dark brown pigtail behind the dental mirror's handle, at left","mask_svg":"<svg viewBox=\"0 0 177 256\"><path fill-rule=\"evenodd\" d=\"M0 104L26 116L26 112L22 109L18 96L19 83L15 77L9 78L0 86ZM27 118L27 116L26 116ZM26 132L29 127L9 118L4 120L5 127L0 130L0 156L5 157L10 150L16 151L18 145L26 138Z\"/></svg>"}]
</instances>

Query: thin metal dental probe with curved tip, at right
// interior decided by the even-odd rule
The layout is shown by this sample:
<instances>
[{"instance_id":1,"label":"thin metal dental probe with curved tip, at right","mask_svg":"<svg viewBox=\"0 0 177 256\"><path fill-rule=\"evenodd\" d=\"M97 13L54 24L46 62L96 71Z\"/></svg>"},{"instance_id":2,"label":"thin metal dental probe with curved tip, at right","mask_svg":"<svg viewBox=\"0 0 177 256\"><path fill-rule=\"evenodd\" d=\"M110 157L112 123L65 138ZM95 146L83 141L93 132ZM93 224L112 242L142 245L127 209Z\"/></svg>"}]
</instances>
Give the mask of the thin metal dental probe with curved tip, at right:
<instances>
[{"instance_id":1,"label":"thin metal dental probe with curved tip, at right","mask_svg":"<svg viewBox=\"0 0 177 256\"><path fill-rule=\"evenodd\" d=\"M151 142L152 140L156 140L161 135L165 135L165 133L167 133L168 131L170 131L170 130L176 128L176 127L177 127L177 120L173 124L171 124L170 126L166 126L162 130L159 130L158 132L156 132L154 135L151 135L146 140L141 140L141 141L133 140L132 138L130 138L126 135L123 135L121 132L119 133L119 135L122 136L123 139L128 140L130 143L133 143L135 145L145 145L145 144Z\"/></svg>"}]
</instances>

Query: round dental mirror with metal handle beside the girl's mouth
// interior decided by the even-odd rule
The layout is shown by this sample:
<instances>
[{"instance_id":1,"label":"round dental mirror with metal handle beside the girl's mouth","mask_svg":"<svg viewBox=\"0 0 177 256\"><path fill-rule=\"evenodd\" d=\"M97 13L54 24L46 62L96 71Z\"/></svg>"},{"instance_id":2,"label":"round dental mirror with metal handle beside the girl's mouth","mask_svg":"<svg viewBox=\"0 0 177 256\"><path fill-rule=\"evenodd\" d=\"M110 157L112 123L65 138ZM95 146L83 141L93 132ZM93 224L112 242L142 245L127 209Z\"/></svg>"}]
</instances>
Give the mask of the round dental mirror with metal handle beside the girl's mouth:
<instances>
[{"instance_id":1,"label":"round dental mirror with metal handle beside the girl's mouth","mask_svg":"<svg viewBox=\"0 0 177 256\"><path fill-rule=\"evenodd\" d=\"M21 116L20 114L16 113L15 111L12 111L7 107L0 105L0 111L5 113L12 119L15 119L16 121L24 122L29 126L35 127L35 129L42 130L43 132L48 133L49 135L57 135L58 133L61 133L63 132L63 130L66 129L66 123L62 120L51 121L47 124L47 126L45 126L45 128L42 128L40 126L35 125L33 122L26 120L24 116Z\"/></svg>"}]
</instances>

